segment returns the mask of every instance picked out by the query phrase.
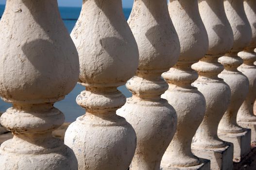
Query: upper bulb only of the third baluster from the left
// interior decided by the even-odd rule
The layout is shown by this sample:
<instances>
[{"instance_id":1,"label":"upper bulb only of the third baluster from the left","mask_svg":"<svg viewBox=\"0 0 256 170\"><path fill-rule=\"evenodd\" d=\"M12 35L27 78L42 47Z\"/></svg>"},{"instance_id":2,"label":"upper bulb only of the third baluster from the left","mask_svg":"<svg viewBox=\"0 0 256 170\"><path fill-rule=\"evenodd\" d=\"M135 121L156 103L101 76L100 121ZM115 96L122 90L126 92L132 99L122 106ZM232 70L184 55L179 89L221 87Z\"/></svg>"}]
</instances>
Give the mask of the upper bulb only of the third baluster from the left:
<instances>
[{"instance_id":1,"label":"upper bulb only of the third baluster from the left","mask_svg":"<svg viewBox=\"0 0 256 170\"><path fill-rule=\"evenodd\" d=\"M128 23L139 49L138 71L159 70L161 73L177 62L179 39L166 0L135 0Z\"/></svg>"}]
</instances>

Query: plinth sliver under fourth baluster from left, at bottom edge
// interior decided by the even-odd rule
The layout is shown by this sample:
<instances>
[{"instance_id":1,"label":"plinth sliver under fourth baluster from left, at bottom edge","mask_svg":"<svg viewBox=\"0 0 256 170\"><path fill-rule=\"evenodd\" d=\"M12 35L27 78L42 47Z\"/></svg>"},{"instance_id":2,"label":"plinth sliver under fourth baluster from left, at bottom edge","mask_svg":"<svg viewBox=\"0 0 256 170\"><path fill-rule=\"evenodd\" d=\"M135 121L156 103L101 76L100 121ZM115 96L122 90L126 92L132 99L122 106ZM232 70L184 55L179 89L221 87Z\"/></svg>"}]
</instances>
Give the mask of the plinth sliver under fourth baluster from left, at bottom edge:
<instances>
[{"instance_id":1,"label":"plinth sliver under fourth baluster from left, at bottom edge","mask_svg":"<svg viewBox=\"0 0 256 170\"><path fill-rule=\"evenodd\" d=\"M191 167L161 167L160 170L210 170L210 161L199 158L200 163Z\"/></svg>"}]
</instances>

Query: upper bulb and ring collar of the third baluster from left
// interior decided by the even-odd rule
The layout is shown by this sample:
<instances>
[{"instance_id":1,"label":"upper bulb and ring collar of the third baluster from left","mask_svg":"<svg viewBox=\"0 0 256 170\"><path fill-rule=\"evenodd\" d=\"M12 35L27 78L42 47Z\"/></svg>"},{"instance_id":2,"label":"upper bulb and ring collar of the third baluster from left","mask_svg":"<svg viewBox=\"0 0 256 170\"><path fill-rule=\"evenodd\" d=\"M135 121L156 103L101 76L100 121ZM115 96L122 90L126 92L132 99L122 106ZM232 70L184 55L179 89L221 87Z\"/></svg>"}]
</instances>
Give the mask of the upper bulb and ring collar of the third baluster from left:
<instances>
[{"instance_id":1,"label":"upper bulb and ring collar of the third baluster from left","mask_svg":"<svg viewBox=\"0 0 256 170\"><path fill-rule=\"evenodd\" d=\"M126 87L140 98L158 101L168 89L161 74L177 62L180 52L166 0L135 0L128 23L137 41L139 65Z\"/></svg>"}]
</instances>

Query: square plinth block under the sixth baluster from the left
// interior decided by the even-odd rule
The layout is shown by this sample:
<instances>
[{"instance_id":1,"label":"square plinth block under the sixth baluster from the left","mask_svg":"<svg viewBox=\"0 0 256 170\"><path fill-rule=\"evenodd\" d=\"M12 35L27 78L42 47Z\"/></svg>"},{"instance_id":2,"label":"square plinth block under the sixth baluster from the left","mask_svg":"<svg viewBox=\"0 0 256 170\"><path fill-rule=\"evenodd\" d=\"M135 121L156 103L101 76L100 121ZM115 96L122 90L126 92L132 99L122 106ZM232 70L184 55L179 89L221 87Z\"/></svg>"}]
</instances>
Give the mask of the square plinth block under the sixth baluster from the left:
<instances>
[{"instance_id":1,"label":"square plinth block under the sixth baluster from the left","mask_svg":"<svg viewBox=\"0 0 256 170\"><path fill-rule=\"evenodd\" d=\"M251 151L251 129L244 129L242 133L220 133L218 136L234 145L233 161L240 162L241 159Z\"/></svg>"}]
</instances>

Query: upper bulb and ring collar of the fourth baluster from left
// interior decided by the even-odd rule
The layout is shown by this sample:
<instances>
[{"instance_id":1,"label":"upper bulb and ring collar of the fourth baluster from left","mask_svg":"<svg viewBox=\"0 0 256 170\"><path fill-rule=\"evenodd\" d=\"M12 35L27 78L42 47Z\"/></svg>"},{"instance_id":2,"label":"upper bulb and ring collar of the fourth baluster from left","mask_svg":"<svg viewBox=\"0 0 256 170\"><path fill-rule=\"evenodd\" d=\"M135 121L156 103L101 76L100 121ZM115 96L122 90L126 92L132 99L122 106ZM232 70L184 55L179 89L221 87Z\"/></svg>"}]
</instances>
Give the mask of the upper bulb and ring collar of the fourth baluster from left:
<instances>
[{"instance_id":1,"label":"upper bulb and ring collar of the fourth baluster from left","mask_svg":"<svg viewBox=\"0 0 256 170\"><path fill-rule=\"evenodd\" d=\"M198 2L170 0L169 13L179 36L181 53L178 63L170 71L163 73L163 77L168 83L191 88L190 84L198 78L191 65L208 50L208 36L199 15Z\"/></svg>"}]
</instances>

